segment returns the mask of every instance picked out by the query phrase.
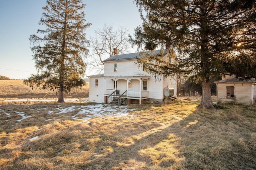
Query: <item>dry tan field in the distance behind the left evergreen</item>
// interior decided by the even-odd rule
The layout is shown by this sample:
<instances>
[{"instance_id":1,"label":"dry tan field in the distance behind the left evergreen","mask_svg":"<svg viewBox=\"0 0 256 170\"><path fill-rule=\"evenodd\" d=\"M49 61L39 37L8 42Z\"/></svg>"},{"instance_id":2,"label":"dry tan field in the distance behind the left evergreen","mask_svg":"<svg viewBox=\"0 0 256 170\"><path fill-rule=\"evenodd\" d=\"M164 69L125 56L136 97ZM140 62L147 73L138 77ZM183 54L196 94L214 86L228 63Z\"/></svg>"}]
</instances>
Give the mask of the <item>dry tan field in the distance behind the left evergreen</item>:
<instances>
[{"instance_id":1,"label":"dry tan field in the distance behind the left evergreen","mask_svg":"<svg viewBox=\"0 0 256 170\"><path fill-rule=\"evenodd\" d=\"M49 99L56 97L56 90L33 89L24 85L23 80L0 80L0 100L5 99ZM88 83L89 84L89 83ZM88 98L89 85L72 89L64 98Z\"/></svg>"}]
</instances>

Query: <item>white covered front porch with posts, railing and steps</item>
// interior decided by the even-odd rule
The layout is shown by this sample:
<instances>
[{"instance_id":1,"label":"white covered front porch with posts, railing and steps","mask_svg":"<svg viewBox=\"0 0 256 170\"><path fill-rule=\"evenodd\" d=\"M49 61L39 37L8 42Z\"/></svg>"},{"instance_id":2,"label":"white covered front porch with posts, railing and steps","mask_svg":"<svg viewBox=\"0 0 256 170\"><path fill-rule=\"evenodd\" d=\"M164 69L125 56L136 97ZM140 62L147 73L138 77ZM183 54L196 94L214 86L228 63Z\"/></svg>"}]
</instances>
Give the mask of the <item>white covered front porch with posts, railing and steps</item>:
<instances>
[{"instance_id":1,"label":"white covered front porch with posts, railing and steps","mask_svg":"<svg viewBox=\"0 0 256 170\"><path fill-rule=\"evenodd\" d=\"M149 96L148 79L150 77L104 77L105 103L110 103L113 96L125 99L140 100L147 99ZM112 97L112 98L111 98ZM106 101L107 100L107 101Z\"/></svg>"}]
</instances>

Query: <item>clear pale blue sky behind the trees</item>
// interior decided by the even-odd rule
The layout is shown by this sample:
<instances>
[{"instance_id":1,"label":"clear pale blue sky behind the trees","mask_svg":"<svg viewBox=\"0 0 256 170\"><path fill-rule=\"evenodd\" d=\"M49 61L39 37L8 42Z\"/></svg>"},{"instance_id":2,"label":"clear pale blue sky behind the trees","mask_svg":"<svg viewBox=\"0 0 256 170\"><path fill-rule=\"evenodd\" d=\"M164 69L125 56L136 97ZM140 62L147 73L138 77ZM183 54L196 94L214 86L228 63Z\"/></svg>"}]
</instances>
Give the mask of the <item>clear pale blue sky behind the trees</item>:
<instances>
[{"instance_id":1,"label":"clear pale blue sky behind the trees","mask_svg":"<svg viewBox=\"0 0 256 170\"><path fill-rule=\"evenodd\" d=\"M46 0L0 0L0 75L12 79L36 73L29 36L36 33ZM140 14L133 0L83 0L87 39L104 24L127 27L131 34L140 25ZM131 50L134 52L135 50ZM90 74L87 72L87 74Z\"/></svg>"}]
</instances>

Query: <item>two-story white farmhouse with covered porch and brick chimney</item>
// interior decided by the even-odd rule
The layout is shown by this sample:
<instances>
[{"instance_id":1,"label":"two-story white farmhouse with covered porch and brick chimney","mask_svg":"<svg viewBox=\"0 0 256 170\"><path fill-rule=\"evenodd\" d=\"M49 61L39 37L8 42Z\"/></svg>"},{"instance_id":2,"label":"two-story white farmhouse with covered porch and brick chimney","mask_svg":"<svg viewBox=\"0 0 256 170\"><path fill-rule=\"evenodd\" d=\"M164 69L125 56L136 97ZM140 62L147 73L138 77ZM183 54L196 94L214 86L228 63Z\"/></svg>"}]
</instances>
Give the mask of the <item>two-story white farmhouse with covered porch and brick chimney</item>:
<instances>
[{"instance_id":1,"label":"two-story white farmhouse with covered porch and brick chimney","mask_svg":"<svg viewBox=\"0 0 256 170\"><path fill-rule=\"evenodd\" d=\"M168 59L169 51L156 50L148 54ZM144 55L141 53L122 54L104 60L104 74L89 76L89 101L96 103L116 101L116 104L162 102L164 88L167 87L172 90L170 94L176 96L176 77L170 76L163 79L161 76L157 78L151 76L143 70L143 66L138 67L136 64L139 57L144 58Z\"/></svg>"}]
</instances>

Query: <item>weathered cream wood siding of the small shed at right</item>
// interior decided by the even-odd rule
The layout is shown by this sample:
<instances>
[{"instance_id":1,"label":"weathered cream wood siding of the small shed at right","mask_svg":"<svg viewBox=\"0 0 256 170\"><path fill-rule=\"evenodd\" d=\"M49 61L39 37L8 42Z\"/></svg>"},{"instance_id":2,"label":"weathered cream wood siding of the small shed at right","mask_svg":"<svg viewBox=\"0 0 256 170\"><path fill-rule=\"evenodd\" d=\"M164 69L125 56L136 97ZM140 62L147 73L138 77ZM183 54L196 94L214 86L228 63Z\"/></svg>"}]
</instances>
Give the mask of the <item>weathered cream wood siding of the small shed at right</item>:
<instances>
[{"instance_id":1,"label":"weathered cream wood siding of the small shed at right","mask_svg":"<svg viewBox=\"0 0 256 170\"><path fill-rule=\"evenodd\" d=\"M234 99L226 98L226 86L234 86ZM251 84L245 83L218 83L217 101L219 103L252 104Z\"/></svg>"}]
</instances>

